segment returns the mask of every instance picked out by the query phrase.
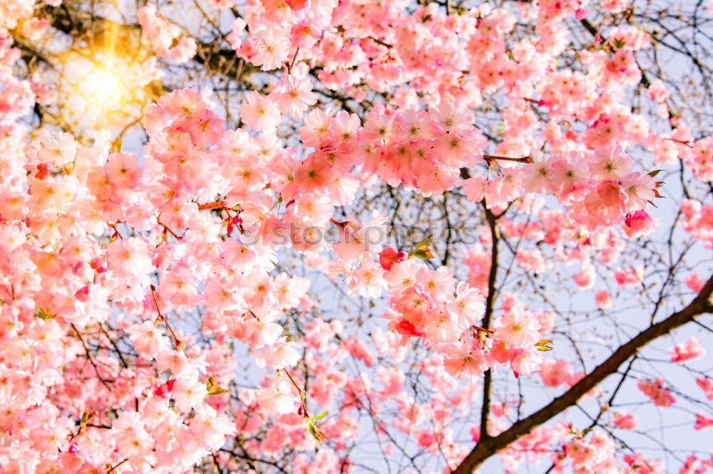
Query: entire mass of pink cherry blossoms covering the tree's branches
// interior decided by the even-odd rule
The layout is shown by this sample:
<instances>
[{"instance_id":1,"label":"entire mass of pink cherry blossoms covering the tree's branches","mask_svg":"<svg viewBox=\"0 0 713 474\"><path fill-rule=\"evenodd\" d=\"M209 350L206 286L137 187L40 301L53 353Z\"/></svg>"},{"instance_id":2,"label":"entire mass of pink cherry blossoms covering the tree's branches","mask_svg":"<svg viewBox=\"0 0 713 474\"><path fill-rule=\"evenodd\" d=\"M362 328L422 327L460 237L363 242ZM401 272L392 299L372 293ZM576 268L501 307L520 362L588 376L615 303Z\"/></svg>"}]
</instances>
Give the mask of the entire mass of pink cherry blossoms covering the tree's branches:
<instances>
[{"instance_id":1,"label":"entire mass of pink cherry blossoms covering the tree's branches","mask_svg":"<svg viewBox=\"0 0 713 474\"><path fill-rule=\"evenodd\" d=\"M649 214L661 186L650 168L682 160L707 181L713 156L710 138L694 141L683 125L654 132L622 105L642 80L635 51L650 45L645 33L613 28L606 48L578 51L583 68L558 68L565 21L584 19L593 2L536 3L456 15L437 2L248 0L226 40L236 59L272 75L241 96L241 126L226 129L205 94L179 88L143 109L138 153L107 131L30 133L21 117L53 93L40 78L16 77L21 51L9 30L24 25L31 38L49 26L33 2L0 5L2 468L177 473L210 458L238 470L221 448L250 459L289 446L295 472L346 472L338 453L359 440L366 409L375 420L393 414L393 428L456 465L466 448L451 423L471 410L487 371L538 374L531 379L553 391L577 384L577 364L543 354L559 316L495 293L496 236L518 240L512 263L528 276L573 265L573 288L593 290L604 312L613 297L601 275L622 291L645 281L646 269L620 256L660 226ZM626 6L599 3L612 14ZM196 38L155 5L136 16L156 56L195 57ZM535 33L513 43L518 21ZM321 106L331 93L344 110ZM647 93L667 115L665 85ZM508 101L498 144L475 125L476 107L494 94ZM368 229L386 235L389 216L349 209L383 184L426 197L462 192L497 220L466 250L465 278L434 263L428 239L415 248L371 241ZM684 229L711 246L713 206L685 199L681 211ZM319 238L330 226L334 242ZM385 297L368 337L320 310L309 280L281 265L288 253L355 300ZM686 284L704 285L695 274ZM200 322L198 334L188 320ZM257 384L237 383L236 347ZM687 364L704 349L689 339L670 353ZM426 355L411 362L414 354ZM418 368L425 401L406 391L397 364ZM713 399L712 379L697 384ZM657 406L676 403L663 379L638 387ZM488 433L474 427L473 441L511 426L511 405L486 407ZM611 423L637 428L632 414ZM705 414L692 421L712 424ZM517 468L525 451L578 473L619 468L610 436L563 421L520 437L501 451L503 465ZM639 454L623 460L625 472L662 471Z\"/></svg>"}]
</instances>

